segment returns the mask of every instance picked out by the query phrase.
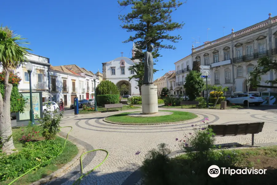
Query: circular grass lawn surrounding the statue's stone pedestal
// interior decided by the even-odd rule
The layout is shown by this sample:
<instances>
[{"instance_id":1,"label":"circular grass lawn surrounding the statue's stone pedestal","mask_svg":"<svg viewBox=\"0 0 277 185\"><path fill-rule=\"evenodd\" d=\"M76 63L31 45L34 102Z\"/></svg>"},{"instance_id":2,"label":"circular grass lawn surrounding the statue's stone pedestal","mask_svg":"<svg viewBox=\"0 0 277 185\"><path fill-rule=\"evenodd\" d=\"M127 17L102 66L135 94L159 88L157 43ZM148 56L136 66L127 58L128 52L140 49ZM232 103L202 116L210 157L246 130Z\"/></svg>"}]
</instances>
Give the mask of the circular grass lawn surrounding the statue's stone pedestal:
<instances>
[{"instance_id":1,"label":"circular grass lawn surrounding the statue's stone pedestal","mask_svg":"<svg viewBox=\"0 0 277 185\"><path fill-rule=\"evenodd\" d=\"M130 113L121 113L113 116L106 117L107 121L112 121L116 123L133 123L133 124L142 124L142 123L167 123L167 122L176 122L176 121L185 121L197 117L194 113L181 112L181 111L167 111L172 112L171 115L166 116L155 116L155 117L132 117L127 116Z\"/></svg>"}]
</instances>

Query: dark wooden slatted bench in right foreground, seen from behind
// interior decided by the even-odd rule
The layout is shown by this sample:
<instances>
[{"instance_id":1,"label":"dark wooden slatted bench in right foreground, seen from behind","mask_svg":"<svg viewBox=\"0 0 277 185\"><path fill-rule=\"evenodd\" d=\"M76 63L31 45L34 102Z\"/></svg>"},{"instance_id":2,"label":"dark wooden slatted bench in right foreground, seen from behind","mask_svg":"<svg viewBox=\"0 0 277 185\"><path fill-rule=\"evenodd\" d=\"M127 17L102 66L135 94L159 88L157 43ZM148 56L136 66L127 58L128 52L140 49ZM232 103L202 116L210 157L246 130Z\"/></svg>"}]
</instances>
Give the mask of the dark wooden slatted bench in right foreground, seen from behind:
<instances>
[{"instance_id":1,"label":"dark wooden slatted bench in right foreground, seen from behind","mask_svg":"<svg viewBox=\"0 0 277 185\"><path fill-rule=\"evenodd\" d=\"M258 134L263 130L264 122L255 123L239 123L231 125L209 125L216 136L236 136L252 134L252 146L254 146L254 134Z\"/></svg>"}]
</instances>

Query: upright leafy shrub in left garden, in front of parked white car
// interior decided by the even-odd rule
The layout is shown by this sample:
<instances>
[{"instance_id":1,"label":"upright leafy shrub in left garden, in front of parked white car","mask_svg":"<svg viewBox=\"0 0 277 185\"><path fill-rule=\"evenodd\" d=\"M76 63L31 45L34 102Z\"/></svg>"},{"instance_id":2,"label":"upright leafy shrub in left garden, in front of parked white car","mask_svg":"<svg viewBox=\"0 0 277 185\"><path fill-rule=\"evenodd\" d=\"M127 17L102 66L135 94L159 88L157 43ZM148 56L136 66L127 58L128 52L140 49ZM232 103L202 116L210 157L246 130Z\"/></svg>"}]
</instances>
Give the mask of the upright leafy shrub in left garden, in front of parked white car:
<instances>
[{"instance_id":1,"label":"upright leafy shrub in left garden, in front of parked white car","mask_svg":"<svg viewBox=\"0 0 277 185\"><path fill-rule=\"evenodd\" d=\"M47 110L49 109L50 105L46 104ZM54 112L55 113L55 112ZM60 122L63 117L63 112L59 113L58 115L54 115L50 113L50 111L46 111L43 113L43 118L40 122L42 136L47 139L55 139L56 134L60 131Z\"/></svg>"}]
</instances>

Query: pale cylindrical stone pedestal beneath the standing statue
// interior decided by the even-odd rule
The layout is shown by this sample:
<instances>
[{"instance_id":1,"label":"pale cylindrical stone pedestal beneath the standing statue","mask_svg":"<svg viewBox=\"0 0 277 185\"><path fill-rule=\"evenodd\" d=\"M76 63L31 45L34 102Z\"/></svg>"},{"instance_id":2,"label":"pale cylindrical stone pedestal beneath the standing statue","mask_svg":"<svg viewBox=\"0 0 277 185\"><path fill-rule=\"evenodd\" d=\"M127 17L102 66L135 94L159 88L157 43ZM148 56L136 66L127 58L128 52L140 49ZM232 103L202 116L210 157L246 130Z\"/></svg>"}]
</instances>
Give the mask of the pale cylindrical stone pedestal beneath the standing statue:
<instances>
[{"instance_id":1,"label":"pale cylindrical stone pedestal beneath the standing statue","mask_svg":"<svg viewBox=\"0 0 277 185\"><path fill-rule=\"evenodd\" d=\"M156 85L143 85L141 87L141 99L143 114L158 112L158 88Z\"/></svg>"}]
</instances>

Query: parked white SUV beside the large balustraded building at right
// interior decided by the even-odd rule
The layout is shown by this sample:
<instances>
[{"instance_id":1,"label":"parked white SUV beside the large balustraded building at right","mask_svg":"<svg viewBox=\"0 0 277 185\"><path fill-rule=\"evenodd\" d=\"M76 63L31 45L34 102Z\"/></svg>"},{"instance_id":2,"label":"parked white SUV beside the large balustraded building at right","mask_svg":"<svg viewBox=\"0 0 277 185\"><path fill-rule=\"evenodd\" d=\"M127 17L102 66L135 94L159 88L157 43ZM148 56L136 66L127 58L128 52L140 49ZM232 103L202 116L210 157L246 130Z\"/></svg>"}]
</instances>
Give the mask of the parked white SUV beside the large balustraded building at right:
<instances>
[{"instance_id":1,"label":"parked white SUV beside the large balustraded building at right","mask_svg":"<svg viewBox=\"0 0 277 185\"><path fill-rule=\"evenodd\" d=\"M241 93L226 99L227 104L234 103L234 104L242 104L245 106L248 105L248 100L249 100L249 104L254 104L256 106L259 106L263 103L263 99L259 97L259 95L257 94L249 94L249 98L248 98L247 93Z\"/></svg>"}]
</instances>

